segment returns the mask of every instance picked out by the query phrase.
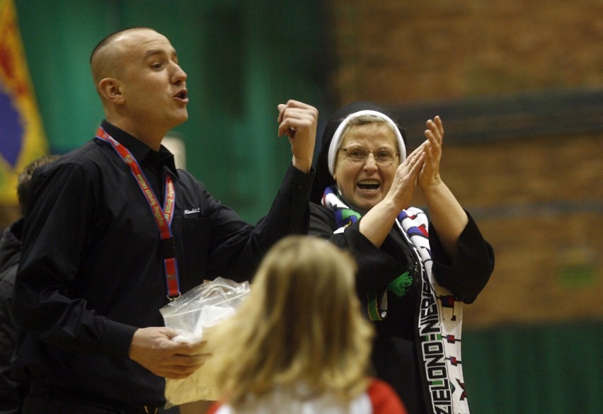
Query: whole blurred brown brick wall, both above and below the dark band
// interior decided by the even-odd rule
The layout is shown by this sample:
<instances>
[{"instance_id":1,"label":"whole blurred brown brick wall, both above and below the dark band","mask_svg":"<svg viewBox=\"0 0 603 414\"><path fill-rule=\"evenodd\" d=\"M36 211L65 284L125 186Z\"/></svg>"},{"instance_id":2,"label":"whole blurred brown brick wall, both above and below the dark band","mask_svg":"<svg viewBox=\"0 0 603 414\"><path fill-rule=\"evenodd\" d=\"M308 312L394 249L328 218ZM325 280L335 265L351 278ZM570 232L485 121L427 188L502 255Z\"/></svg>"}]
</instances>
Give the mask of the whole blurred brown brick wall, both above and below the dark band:
<instances>
[{"instance_id":1,"label":"whole blurred brown brick wall, both above and below the dark band","mask_svg":"<svg viewBox=\"0 0 603 414\"><path fill-rule=\"evenodd\" d=\"M339 104L603 91L601 1L333 0L330 11ZM523 137L444 146L442 177L496 252L466 306L471 326L603 317L603 117L542 135L532 115Z\"/></svg>"}]
</instances>

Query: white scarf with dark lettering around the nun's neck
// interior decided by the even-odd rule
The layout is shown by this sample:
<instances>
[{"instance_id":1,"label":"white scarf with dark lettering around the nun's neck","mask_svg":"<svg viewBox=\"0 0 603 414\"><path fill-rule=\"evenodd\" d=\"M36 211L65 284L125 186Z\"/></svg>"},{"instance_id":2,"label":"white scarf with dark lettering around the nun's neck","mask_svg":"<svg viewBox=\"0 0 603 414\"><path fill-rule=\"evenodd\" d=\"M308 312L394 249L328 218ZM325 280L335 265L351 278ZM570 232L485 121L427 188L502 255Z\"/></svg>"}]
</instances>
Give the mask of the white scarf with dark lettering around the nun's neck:
<instances>
[{"instance_id":1,"label":"white scarf with dark lettering around the nun's neck","mask_svg":"<svg viewBox=\"0 0 603 414\"><path fill-rule=\"evenodd\" d=\"M322 204L333 211L335 222L340 226L334 233L343 232L345 227L362 217L341 200L338 190L333 187L326 188ZM461 359L462 302L435 280L428 223L425 212L409 207L398 215L394 224L410 243L421 269L415 338L423 365L425 405L430 414L469 414ZM369 317L373 321L380 319L374 317L371 309Z\"/></svg>"}]
</instances>

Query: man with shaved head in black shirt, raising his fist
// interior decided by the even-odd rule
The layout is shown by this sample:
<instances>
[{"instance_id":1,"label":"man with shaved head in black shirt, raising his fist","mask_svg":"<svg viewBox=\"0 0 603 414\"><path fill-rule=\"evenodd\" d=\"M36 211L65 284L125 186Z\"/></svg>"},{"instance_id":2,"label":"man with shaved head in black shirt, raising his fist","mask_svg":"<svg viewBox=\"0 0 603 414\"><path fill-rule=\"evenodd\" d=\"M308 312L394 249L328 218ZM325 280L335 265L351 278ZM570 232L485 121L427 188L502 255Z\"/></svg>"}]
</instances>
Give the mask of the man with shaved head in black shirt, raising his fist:
<instances>
[{"instance_id":1,"label":"man with shaved head in black shirt, raising his fist","mask_svg":"<svg viewBox=\"0 0 603 414\"><path fill-rule=\"evenodd\" d=\"M171 42L122 30L90 62L105 120L31 182L14 296L27 331L15 369L32 384L25 414L159 412L165 378L185 378L209 357L203 342L172 341L159 309L203 280L250 279L272 244L309 226L316 108L276 108L292 165L253 226L176 170L161 145L188 117Z\"/></svg>"}]
</instances>

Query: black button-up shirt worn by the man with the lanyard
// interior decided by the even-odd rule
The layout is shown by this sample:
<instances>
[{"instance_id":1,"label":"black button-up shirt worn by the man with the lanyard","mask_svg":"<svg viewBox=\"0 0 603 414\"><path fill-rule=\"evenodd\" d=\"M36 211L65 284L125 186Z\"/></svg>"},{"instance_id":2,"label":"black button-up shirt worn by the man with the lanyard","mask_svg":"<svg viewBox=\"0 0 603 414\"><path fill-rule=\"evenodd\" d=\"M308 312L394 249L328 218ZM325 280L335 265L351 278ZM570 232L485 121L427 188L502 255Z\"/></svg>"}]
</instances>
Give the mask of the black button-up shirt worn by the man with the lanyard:
<instances>
[{"instance_id":1,"label":"black button-up shirt worn by the man with the lanyard","mask_svg":"<svg viewBox=\"0 0 603 414\"><path fill-rule=\"evenodd\" d=\"M173 178L181 292L217 276L248 280L275 241L307 232L314 173L290 166L268 216L252 226L176 171L167 149L102 126L139 161L162 203L165 174ZM39 168L30 189L14 297L28 335L17 370L130 405L163 404L163 378L128 357L137 328L163 326L168 301L159 230L130 168L92 139Z\"/></svg>"}]
</instances>

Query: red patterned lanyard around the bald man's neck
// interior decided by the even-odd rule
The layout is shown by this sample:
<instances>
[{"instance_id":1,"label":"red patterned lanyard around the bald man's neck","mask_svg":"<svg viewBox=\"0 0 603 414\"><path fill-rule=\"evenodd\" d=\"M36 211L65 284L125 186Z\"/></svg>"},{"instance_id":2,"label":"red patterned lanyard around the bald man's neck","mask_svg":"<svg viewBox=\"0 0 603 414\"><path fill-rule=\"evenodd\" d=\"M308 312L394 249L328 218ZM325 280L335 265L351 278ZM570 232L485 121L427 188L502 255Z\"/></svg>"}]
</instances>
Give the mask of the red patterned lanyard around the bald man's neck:
<instances>
[{"instance_id":1,"label":"red patterned lanyard around the bald man's neck","mask_svg":"<svg viewBox=\"0 0 603 414\"><path fill-rule=\"evenodd\" d=\"M108 142L111 144L111 146L113 146L115 152L117 152L127 166L130 167L132 176L136 178L136 182L138 183L142 194L147 198L147 202L149 202L149 207L151 207L151 212L153 212L153 217L155 218L157 227L159 227L159 234L161 237L159 250L163 258L163 268L166 272L168 299L177 299L180 297L180 284L178 282L178 265L176 263L176 243L174 242L171 231L176 192L174 191L171 176L166 173L166 200L163 202L162 209L161 205L159 205L159 202L157 201L157 197L155 197L153 189L147 184L147 178L144 177L144 173L142 172L138 161L136 161L132 153L130 153L125 146L115 141L113 137L103 130L103 127L98 127L98 130L96 131L96 138L101 139L101 141Z\"/></svg>"}]
</instances>

